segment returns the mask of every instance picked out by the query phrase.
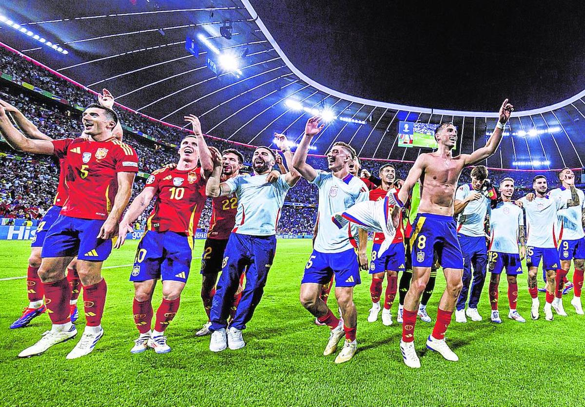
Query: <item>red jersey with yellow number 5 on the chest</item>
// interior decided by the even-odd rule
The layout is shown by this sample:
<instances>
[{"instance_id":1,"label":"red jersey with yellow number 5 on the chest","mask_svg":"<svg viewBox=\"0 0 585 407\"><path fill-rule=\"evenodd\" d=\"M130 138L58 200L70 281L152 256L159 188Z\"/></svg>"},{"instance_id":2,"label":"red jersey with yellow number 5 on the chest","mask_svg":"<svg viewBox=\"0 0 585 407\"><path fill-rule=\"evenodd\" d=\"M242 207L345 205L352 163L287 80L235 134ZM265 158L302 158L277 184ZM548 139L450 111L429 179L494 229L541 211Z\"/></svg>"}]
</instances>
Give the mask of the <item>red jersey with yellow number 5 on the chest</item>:
<instances>
[{"instance_id":1,"label":"red jersey with yellow number 5 on the chest","mask_svg":"<svg viewBox=\"0 0 585 407\"><path fill-rule=\"evenodd\" d=\"M138 156L115 138L104 142L53 140L55 155L65 157L68 197L61 215L106 219L118 192L118 173L137 173Z\"/></svg>"}]
</instances>

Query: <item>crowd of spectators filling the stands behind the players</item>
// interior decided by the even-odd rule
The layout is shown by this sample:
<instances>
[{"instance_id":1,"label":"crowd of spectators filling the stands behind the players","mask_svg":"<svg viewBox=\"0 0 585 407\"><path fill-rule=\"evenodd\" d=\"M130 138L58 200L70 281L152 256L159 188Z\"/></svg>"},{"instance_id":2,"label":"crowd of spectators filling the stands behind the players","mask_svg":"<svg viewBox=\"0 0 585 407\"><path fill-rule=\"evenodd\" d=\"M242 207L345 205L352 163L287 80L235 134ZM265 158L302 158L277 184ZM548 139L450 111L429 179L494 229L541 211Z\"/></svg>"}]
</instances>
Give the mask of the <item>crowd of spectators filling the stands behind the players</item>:
<instances>
[{"instance_id":1,"label":"crowd of spectators filling the stands behind the players","mask_svg":"<svg viewBox=\"0 0 585 407\"><path fill-rule=\"evenodd\" d=\"M11 75L16 81L24 81L35 85L69 102L69 106L53 101L40 94L19 90L15 85L0 81L0 98L15 105L31 119L39 129L57 139L71 137L81 132L81 111L72 106L87 106L95 103L96 96L77 87L70 82L51 74L24 58L0 48L0 72ZM133 129L124 132L124 142L137 151L140 159L140 171L152 173L164 164L177 161L177 150L168 144L179 144L187 134L186 130L163 125L138 113L116 109L123 125ZM140 136L136 131L147 134L157 142ZM250 165L254 148L242 144L234 144L216 137L208 137L210 146L220 151L228 148L238 149L245 157L243 172L251 172ZM381 165L388 161L362 160L362 168L377 177ZM308 163L316 169L326 170L327 162L322 156L309 156ZM392 161L397 171L397 178L404 179L412 163ZM470 182L470 168L463 171L460 183ZM540 173L531 171L490 170L490 179L497 183L504 177L512 176L517 185L515 197L524 195L532 186L532 178ZM549 185L557 185L556 175L544 172ZM53 195L59 177L59 167L51 157L34 156L26 153L15 153L6 143L0 143L0 218L39 219L52 204ZM144 178L136 177L134 198L144 187ZM318 201L316 187L305 180L290 189L286 202L308 204L310 206L285 205L281 212L279 233L312 234L316 219L315 205ZM211 201L202 213L199 227L207 229L211 218ZM149 207L149 211L152 205ZM147 213L138 219L138 223L146 223Z\"/></svg>"}]
</instances>

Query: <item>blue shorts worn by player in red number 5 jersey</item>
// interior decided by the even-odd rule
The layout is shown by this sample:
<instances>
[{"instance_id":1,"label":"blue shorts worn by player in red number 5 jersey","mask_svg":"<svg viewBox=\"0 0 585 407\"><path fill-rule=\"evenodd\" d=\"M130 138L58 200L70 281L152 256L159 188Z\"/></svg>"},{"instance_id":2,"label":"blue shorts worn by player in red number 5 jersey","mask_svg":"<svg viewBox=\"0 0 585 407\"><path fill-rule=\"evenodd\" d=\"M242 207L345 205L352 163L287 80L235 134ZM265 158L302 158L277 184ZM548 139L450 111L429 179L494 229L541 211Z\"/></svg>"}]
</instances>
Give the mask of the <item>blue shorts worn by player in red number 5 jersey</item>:
<instances>
[{"instance_id":1,"label":"blue shorts worn by player in red number 5 jersey","mask_svg":"<svg viewBox=\"0 0 585 407\"><path fill-rule=\"evenodd\" d=\"M59 215L44 238L41 257L74 257L104 261L112 252L112 239L98 239L102 219L80 219Z\"/></svg>"}]
</instances>

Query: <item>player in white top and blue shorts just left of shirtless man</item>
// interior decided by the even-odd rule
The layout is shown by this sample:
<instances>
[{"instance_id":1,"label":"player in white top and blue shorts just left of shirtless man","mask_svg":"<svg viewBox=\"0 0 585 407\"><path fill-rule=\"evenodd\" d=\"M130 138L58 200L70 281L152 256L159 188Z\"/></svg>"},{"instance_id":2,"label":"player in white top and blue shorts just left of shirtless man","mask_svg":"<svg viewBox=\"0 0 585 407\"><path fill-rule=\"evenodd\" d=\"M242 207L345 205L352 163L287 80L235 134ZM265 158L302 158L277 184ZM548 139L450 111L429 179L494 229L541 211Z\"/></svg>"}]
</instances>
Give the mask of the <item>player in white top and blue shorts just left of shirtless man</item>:
<instances>
[{"instance_id":1,"label":"player in white top and blue shorts just left of shirtless man","mask_svg":"<svg viewBox=\"0 0 585 407\"><path fill-rule=\"evenodd\" d=\"M300 300L312 315L331 328L329 342L323 353L325 356L335 353L339 340L345 333L345 345L335 358L335 363L343 363L350 360L357 350L357 312L353 303L353 288L361 282L360 268L367 269L367 232L360 229L356 256L357 227L349 225L339 229L333 223L332 215L349 208L355 202L369 200L369 193L363 181L349 173L349 164L354 162L356 154L349 144L334 143L327 153L331 173L315 170L307 164L309 144L324 127L319 126L320 120L319 116L308 120L292 161L302 177L319 188L319 225L313 252L302 277ZM332 274L335 274L335 297L341 309L343 323L319 297L322 286L331 281Z\"/></svg>"}]
</instances>

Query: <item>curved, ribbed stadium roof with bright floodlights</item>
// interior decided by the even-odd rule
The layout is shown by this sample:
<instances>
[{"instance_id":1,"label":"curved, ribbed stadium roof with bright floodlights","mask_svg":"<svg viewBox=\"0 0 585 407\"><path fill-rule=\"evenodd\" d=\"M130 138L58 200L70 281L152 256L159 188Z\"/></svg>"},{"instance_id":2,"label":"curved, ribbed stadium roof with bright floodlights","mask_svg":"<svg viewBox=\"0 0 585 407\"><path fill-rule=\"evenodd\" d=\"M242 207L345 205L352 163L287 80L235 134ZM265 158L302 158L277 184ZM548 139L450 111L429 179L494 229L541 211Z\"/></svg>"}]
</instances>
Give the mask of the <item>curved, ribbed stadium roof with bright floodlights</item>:
<instances>
[{"instance_id":1,"label":"curved, ribbed stadium roof with bright floodlights","mask_svg":"<svg viewBox=\"0 0 585 407\"><path fill-rule=\"evenodd\" d=\"M266 1L254 2L257 9L248 0L214 0L205 3L207 6L202 6L203 2L175 0L67 3L65 8L59 2L31 1L27 8L22 8L16 1L8 1L2 4L0 13L68 54L50 49L32 35L6 27L5 23L0 23L0 39L88 88L111 89L118 102L153 118L183 126L184 115L199 115L206 133L225 139L271 144L274 132L287 132L289 139L295 140L310 112L316 109L337 119L315 138L314 153L325 153L333 142L342 140L355 146L362 157L414 160L421 151L428 150L397 146L401 120L454 122L460 132L457 151L462 153L483 145L486 132L493 129L497 120L499 100L489 112L444 109L444 102L441 108L409 106L395 102L408 100L404 91L388 95L386 100L367 99L375 92L361 88L357 91L355 73L348 75L354 80L349 81L353 85L347 88L342 88L343 80L336 82L331 75L324 74L322 67L315 70L322 80L312 79L311 64L291 61L262 17L268 16L267 22L278 32L283 47L297 59L307 54L295 52L299 30L289 30L287 37L287 30L278 29L278 22L270 18L274 13L282 15L281 8L269 10L270 3ZM186 4L193 6L188 8ZM226 38L229 34L231 39ZM197 56L185 49L187 37L194 39ZM504 38L503 42L506 41ZM339 47L343 46L344 43L339 43ZM318 47L315 43L315 48ZM328 57L332 56L315 51L314 64L326 66ZM427 63L424 57L422 63ZM582 60L577 63L582 65ZM348 64L346 70L352 69L353 65ZM417 73L404 72L405 77L412 75ZM336 89L327 87L325 82ZM498 84L489 85L494 98L508 96L520 108L530 105L516 101L515 95L506 95L506 89ZM462 94L465 86L462 81ZM509 130L513 134L504 137L500 151L487 160L487 165L583 167L585 91L570 97L563 95L566 89L579 86L585 88L572 83L559 91L558 95L565 100L515 112ZM419 100L424 100L420 91L416 93ZM527 164L531 161L548 164ZM524 164L514 164L518 162Z\"/></svg>"}]
</instances>

